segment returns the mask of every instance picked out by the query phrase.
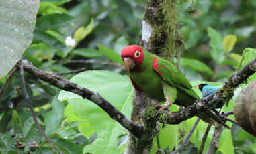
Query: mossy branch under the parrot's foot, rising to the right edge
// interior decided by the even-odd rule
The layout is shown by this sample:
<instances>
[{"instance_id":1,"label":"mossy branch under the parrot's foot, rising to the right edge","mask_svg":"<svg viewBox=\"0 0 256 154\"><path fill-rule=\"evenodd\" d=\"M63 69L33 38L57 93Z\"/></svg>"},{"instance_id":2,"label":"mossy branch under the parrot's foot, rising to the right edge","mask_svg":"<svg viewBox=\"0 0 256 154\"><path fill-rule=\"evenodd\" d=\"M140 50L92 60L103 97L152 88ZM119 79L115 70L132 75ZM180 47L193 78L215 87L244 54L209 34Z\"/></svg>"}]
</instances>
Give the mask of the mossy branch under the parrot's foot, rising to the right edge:
<instances>
[{"instance_id":1,"label":"mossy branch under the parrot's foot, rising to the right edge","mask_svg":"<svg viewBox=\"0 0 256 154\"><path fill-rule=\"evenodd\" d=\"M191 106L188 106L179 112L171 113L165 111L163 114L159 115L158 121L161 123L179 124L182 121L194 117L196 114L202 112L205 108L209 108L213 104L228 102L228 100L232 98L235 88L237 88L239 84L246 82L247 78L255 73L255 64L256 58L251 60L251 62L249 62L249 64L247 64L242 70L230 76L218 92L200 99L198 102L191 104Z\"/></svg>"}]
</instances>

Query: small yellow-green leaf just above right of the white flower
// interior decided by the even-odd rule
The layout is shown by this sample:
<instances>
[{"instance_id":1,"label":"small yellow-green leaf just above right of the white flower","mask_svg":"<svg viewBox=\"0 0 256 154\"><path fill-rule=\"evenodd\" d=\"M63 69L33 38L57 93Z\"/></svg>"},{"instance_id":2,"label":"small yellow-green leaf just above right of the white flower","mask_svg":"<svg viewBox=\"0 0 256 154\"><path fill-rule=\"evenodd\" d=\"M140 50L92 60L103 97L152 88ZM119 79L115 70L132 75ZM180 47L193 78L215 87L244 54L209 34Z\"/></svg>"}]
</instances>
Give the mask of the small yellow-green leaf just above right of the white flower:
<instances>
[{"instance_id":1,"label":"small yellow-green leaf just above right of the white flower","mask_svg":"<svg viewBox=\"0 0 256 154\"><path fill-rule=\"evenodd\" d=\"M76 42L80 42L85 37L87 37L87 35L89 35L91 31L93 31L93 23L94 19L91 19L89 25L87 25L86 27L80 27L79 29L77 29L77 31L75 31L73 37L75 38Z\"/></svg>"}]
</instances>

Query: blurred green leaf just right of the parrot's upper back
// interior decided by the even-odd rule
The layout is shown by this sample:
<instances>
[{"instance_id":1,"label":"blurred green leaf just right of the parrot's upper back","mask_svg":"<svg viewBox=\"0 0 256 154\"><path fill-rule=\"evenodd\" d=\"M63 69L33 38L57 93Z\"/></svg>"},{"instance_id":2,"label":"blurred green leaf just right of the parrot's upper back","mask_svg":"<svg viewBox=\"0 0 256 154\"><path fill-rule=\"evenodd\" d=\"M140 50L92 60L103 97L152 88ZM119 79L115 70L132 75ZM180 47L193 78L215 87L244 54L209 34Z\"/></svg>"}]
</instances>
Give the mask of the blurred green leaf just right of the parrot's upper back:
<instances>
[{"instance_id":1,"label":"blurred green leaf just right of the parrot's upper back","mask_svg":"<svg viewBox=\"0 0 256 154\"><path fill-rule=\"evenodd\" d=\"M207 66L206 64L200 62L199 60L193 60L189 58L181 58L181 66L187 66L189 68L192 68L194 70L197 70L202 73L206 73L210 76L214 75L214 72Z\"/></svg>"}]
</instances>

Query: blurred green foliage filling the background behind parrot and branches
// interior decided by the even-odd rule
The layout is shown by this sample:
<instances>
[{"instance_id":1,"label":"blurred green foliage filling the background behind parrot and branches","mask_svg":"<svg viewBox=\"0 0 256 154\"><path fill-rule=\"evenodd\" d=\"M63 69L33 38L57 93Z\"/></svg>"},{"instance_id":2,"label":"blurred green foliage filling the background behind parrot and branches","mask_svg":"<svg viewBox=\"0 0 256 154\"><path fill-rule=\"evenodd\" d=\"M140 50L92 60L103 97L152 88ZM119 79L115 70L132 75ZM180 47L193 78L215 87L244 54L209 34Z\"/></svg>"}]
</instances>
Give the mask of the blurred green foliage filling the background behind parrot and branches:
<instances>
[{"instance_id":1,"label":"blurred green foliage filling the background behind parrot and branches","mask_svg":"<svg viewBox=\"0 0 256 154\"><path fill-rule=\"evenodd\" d=\"M133 88L120 52L139 44L145 0L41 0L32 44L24 57L49 72L99 92L130 117ZM179 69L191 84L221 86L230 74L255 58L256 1L179 1L179 31L183 51ZM80 74L71 70L83 68ZM66 73L67 74L66 74ZM7 76L1 78L0 85ZM256 75L250 77L254 80ZM208 82L206 82L208 81ZM97 106L60 91L26 74L34 110L46 134L63 153L123 153L127 131ZM233 110L233 102L222 111ZM199 95L200 91L196 89ZM0 97L1 153L56 153L38 132L16 72ZM172 106L171 110L177 110ZM234 117L231 117L234 119ZM167 125L154 140L165 153L173 151L194 125L196 117ZM237 125L224 130L218 153L256 153L256 140ZM202 121L181 153L198 153L207 124ZM204 152L212 138L210 130Z\"/></svg>"}]
</instances>

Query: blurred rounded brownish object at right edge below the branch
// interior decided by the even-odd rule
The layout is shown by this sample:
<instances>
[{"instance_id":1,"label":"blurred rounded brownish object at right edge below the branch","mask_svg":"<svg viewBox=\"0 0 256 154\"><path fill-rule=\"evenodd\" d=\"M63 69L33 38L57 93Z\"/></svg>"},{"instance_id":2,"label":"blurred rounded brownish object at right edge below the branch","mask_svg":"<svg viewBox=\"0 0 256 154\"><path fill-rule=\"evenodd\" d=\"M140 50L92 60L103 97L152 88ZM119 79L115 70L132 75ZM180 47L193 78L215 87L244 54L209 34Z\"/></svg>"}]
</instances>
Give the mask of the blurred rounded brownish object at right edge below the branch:
<instances>
[{"instance_id":1,"label":"blurred rounded brownish object at right edge below the branch","mask_svg":"<svg viewBox=\"0 0 256 154\"><path fill-rule=\"evenodd\" d=\"M253 80L237 96L234 117L245 131L256 137L256 80Z\"/></svg>"}]
</instances>

